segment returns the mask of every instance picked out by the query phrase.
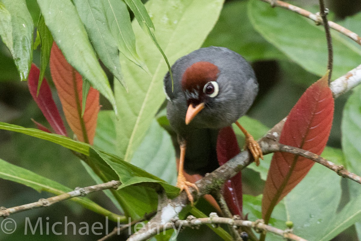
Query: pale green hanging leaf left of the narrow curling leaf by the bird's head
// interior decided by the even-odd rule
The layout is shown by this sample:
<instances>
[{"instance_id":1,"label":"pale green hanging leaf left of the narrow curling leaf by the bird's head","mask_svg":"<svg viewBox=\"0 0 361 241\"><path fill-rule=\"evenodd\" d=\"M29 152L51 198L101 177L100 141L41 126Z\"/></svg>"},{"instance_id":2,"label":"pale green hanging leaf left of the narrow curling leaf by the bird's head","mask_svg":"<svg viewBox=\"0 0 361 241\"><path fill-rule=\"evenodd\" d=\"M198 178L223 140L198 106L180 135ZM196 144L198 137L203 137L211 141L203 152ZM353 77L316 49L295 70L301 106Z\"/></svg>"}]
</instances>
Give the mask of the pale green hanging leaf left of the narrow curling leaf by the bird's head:
<instances>
[{"instance_id":1,"label":"pale green hanging leaf left of the narrow curling leaf by the bird's head","mask_svg":"<svg viewBox=\"0 0 361 241\"><path fill-rule=\"evenodd\" d=\"M135 50L135 36L127 5L118 0L103 0L102 4L110 32L118 43L119 51L127 59L149 73L147 66L139 58Z\"/></svg>"}]
</instances>

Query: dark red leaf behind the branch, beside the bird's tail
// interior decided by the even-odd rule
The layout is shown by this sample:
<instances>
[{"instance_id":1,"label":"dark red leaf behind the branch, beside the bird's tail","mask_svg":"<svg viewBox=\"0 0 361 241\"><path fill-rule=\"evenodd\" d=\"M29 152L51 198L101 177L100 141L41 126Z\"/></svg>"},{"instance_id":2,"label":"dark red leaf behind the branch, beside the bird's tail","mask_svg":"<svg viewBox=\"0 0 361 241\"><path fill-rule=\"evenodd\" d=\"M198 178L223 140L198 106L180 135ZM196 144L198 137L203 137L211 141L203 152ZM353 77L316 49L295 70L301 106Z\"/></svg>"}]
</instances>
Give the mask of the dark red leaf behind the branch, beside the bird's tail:
<instances>
[{"instance_id":1,"label":"dark red leaf behind the branch, beside the bird's tail","mask_svg":"<svg viewBox=\"0 0 361 241\"><path fill-rule=\"evenodd\" d=\"M217 138L217 159L223 165L240 152L236 135L231 126L221 129ZM233 215L242 216L242 174L237 173L223 186L223 195Z\"/></svg>"}]
</instances>

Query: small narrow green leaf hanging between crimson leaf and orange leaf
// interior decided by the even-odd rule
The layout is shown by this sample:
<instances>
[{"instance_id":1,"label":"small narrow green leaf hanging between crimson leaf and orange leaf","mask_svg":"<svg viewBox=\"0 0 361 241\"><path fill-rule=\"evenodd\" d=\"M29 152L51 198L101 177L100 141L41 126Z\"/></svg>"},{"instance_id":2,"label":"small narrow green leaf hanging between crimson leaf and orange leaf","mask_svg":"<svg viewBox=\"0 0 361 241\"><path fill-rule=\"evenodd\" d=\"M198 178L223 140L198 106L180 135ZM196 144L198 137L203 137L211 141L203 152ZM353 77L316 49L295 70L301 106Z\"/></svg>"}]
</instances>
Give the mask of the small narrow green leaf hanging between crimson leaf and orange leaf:
<instances>
[{"instance_id":1,"label":"small narrow green leaf hanging between crimson leaf and orange leaf","mask_svg":"<svg viewBox=\"0 0 361 241\"><path fill-rule=\"evenodd\" d=\"M40 16L38 22L38 33L40 36L40 75L39 75L39 82L38 82L38 90L36 91L36 96L39 95L40 86L43 82L45 69L49 64L50 59L50 51L51 47L53 46L53 36L45 25L44 17Z\"/></svg>"}]
</instances>

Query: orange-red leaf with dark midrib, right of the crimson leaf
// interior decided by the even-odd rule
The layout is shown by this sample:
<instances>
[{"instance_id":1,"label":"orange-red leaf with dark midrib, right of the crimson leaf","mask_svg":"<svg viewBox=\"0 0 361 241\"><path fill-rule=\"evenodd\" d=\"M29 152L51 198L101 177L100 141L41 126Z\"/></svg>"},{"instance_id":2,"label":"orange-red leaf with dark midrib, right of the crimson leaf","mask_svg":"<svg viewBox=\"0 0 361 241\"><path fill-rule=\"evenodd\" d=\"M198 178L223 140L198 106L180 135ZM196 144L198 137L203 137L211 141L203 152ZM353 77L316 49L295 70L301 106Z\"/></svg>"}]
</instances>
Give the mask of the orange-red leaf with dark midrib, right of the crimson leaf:
<instances>
[{"instance_id":1,"label":"orange-red leaf with dark midrib, right of the crimson leaf","mask_svg":"<svg viewBox=\"0 0 361 241\"><path fill-rule=\"evenodd\" d=\"M79 141L92 145L100 109L99 91L90 87L82 117L82 76L65 60L55 42L50 54L50 70L66 121Z\"/></svg>"}]
</instances>

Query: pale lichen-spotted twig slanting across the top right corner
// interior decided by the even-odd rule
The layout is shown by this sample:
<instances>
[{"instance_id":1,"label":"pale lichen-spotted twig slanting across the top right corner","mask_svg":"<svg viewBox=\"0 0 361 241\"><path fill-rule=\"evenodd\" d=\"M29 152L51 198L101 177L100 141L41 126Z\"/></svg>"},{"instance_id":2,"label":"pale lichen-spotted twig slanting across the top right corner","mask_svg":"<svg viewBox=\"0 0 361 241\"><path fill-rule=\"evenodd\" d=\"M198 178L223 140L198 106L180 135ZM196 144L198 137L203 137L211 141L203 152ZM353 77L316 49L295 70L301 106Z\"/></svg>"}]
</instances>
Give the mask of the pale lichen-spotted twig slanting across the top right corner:
<instances>
[{"instance_id":1,"label":"pale lichen-spotted twig slanting across the top right corner","mask_svg":"<svg viewBox=\"0 0 361 241\"><path fill-rule=\"evenodd\" d=\"M279 0L277 0L277 1L261 0L261 1L271 4L273 7L280 7L280 8L291 10L292 12L298 13L306 18L313 20L314 22L316 22L316 24L322 24L321 16L311 13L305 9L299 8L295 5L285 3L285 2L279 1ZM356 43L361 45L361 37L358 36L356 33L353 33L352 31L346 29L345 27L343 27L335 22L328 21L328 23L329 23L329 26L331 29L334 29L334 30L338 31L339 33L344 34L345 36L349 37L350 39L354 40Z\"/></svg>"}]
</instances>

